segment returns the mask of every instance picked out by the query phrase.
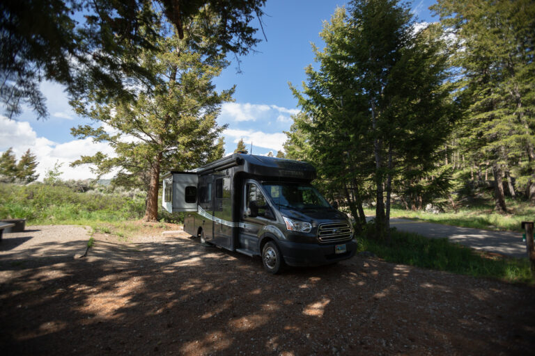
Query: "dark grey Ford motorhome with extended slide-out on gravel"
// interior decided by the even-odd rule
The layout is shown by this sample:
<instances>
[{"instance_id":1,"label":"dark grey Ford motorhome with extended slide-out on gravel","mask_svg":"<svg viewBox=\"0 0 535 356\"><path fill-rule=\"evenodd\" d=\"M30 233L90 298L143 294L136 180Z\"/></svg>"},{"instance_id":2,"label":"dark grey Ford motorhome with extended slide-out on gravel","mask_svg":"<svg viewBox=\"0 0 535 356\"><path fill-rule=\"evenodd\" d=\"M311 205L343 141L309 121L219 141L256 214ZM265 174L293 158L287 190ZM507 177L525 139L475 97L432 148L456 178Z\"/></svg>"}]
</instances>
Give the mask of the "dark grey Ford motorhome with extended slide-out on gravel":
<instances>
[{"instance_id":1,"label":"dark grey Ford motorhome with extended slide-out on gravel","mask_svg":"<svg viewBox=\"0 0 535 356\"><path fill-rule=\"evenodd\" d=\"M164 175L162 205L186 212L185 232L261 256L270 273L350 259L357 249L350 220L311 186L315 177L309 163L236 153Z\"/></svg>"}]
</instances>

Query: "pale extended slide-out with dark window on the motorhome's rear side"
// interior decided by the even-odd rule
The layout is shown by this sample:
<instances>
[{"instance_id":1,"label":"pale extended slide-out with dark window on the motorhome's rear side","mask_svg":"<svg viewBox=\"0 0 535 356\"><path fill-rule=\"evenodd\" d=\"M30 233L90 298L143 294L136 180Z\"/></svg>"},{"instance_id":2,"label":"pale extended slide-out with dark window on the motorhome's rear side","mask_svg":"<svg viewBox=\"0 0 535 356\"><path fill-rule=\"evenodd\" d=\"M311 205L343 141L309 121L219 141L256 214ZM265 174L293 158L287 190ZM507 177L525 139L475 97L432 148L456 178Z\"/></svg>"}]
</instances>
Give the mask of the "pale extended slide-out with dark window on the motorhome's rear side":
<instances>
[{"instance_id":1,"label":"pale extended slide-out with dark window on the motorhome's rear side","mask_svg":"<svg viewBox=\"0 0 535 356\"><path fill-rule=\"evenodd\" d=\"M166 211L197 211L196 173L170 173L163 180L162 207Z\"/></svg>"}]
</instances>

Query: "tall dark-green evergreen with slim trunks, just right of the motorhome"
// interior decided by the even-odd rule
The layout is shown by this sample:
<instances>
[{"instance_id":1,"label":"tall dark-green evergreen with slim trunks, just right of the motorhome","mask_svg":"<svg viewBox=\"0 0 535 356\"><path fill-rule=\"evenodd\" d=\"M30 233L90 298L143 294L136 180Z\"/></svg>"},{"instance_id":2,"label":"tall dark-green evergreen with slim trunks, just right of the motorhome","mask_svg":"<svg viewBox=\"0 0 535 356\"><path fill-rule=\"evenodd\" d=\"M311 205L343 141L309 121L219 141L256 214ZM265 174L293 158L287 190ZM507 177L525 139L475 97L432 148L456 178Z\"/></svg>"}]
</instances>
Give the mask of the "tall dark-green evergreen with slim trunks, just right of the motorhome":
<instances>
[{"instance_id":1,"label":"tall dark-green evergreen with slim trunks, just right of the motorhome","mask_svg":"<svg viewBox=\"0 0 535 356\"><path fill-rule=\"evenodd\" d=\"M297 145L308 142L302 147L311 147L308 155L346 192L362 223L364 183L373 184L382 238L395 179L426 177L451 130L440 31L414 33L408 8L396 1L355 0L348 13L336 10L320 35L320 70L308 67L303 92L293 88L309 119L295 121L288 136ZM299 146L285 148L293 154Z\"/></svg>"}]
</instances>

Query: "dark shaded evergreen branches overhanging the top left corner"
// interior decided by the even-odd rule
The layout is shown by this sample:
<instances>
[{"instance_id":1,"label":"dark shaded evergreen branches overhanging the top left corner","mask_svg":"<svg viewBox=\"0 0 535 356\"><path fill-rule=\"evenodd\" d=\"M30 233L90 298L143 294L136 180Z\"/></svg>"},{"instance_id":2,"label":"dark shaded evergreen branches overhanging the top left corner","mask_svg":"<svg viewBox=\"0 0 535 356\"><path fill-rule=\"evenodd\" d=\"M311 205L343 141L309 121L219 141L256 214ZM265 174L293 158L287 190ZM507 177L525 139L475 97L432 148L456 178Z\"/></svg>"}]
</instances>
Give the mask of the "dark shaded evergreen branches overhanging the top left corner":
<instances>
[{"instance_id":1,"label":"dark shaded evergreen branches overhanging the top left corner","mask_svg":"<svg viewBox=\"0 0 535 356\"><path fill-rule=\"evenodd\" d=\"M162 9L180 38L208 56L247 54L260 40L251 21L261 22L265 0L3 0L0 2L0 102L9 118L22 104L47 116L43 79L67 87L73 97L136 99L137 85L160 78L140 65L144 50L157 50L169 34L152 10ZM215 14L210 18L207 13ZM191 33L194 17L205 21ZM79 22L79 19L83 20ZM169 26L169 27L170 27ZM199 31L202 35L199 36ZM209 43L203 38L209 38ZM238 58L238 57L237 57Z\"/></svg>"}]
</instances>

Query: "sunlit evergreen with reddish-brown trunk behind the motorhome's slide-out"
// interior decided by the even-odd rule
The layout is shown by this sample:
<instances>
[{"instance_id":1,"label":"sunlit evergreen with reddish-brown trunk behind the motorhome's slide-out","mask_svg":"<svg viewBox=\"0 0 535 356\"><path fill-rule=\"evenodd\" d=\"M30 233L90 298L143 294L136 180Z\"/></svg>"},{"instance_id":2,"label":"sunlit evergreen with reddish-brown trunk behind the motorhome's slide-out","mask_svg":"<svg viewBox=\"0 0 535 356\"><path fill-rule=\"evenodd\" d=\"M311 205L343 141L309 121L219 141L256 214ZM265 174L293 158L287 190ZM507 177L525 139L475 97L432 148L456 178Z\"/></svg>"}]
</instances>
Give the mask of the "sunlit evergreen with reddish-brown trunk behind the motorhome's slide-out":
<instances>
[{"instance_id":1,"label":"sunlit evergreen with reddish-brown trunk behind the motorhome's slide-out","mask_svg":"<svg viewBox=\"0 0 535 356\"><path fill-rule=\"evenodd\" d=\"M189 29L204 21L198 18ZM80 126L72 129L79 137L106 141L116 156L98 152L82 156L73 165L91 164L99 175L118 169L116 181L125 184L145 177L147 200L145 220L157 219L160 172L178 168L185 170L218 159L223 140L218 140L224 127L215 119L224 102L230 101L233 89L216 92L212 79L227 65L223 56L206 56L189 47L189 37L178 34L157 43L158 51L146 50L141 65L154 76L164 78L153 95L139 94L136 102L109 101L100 104L93 97L91 106L74 102L77 113L107 124L104 127ZM145 90L143 90L145 91Z\"/></svg>"}]
</instances>

